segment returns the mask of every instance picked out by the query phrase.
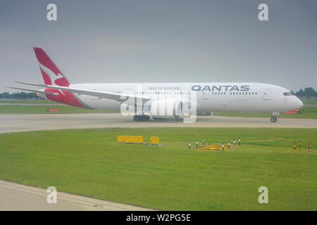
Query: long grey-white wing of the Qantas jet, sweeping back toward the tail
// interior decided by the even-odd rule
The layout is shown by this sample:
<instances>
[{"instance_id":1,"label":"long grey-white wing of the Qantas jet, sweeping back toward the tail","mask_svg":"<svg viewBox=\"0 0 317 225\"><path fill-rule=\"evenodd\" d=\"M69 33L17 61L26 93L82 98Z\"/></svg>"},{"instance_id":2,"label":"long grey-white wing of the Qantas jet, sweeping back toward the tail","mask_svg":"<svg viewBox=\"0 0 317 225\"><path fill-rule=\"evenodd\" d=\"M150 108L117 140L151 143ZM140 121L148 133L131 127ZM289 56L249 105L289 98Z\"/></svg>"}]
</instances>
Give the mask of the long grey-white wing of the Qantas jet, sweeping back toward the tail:
<instances>
[{"instance_id":1,"label":"long grey-white wing of the Qantas jet, sweeping back toward the tail","mask_svg":"<svg viewBox=\"0 0 317 225\"><path fill-rule=\"evenodd\" d=\"M62 90L62 91L70 91L73 94L77 94L77 95L87 95L87 96L96 96L98 98L108 98L108 99L112 99L115 101L119 101L119 102L124 102L128 99L131 98L135 98L135 100L137 100L137 98L141 99L142 102L147 102L149 101L151 98L147 97L147 96L137 96L137 95L132 95L132 94L116 94L116 93L112 93L112 92L108 92L108 91L97 91L97 90L89 90L89 89L75 89L72 87L68 87L68 86L54 86L54 85L47 85L47 84L33 84L33 83L25 83L25 82L17 82L19 84L27 84L27 85L32 85L32 86L41 86L47 89L58 89L58 90Z\"/></svg>"}]
</instances>

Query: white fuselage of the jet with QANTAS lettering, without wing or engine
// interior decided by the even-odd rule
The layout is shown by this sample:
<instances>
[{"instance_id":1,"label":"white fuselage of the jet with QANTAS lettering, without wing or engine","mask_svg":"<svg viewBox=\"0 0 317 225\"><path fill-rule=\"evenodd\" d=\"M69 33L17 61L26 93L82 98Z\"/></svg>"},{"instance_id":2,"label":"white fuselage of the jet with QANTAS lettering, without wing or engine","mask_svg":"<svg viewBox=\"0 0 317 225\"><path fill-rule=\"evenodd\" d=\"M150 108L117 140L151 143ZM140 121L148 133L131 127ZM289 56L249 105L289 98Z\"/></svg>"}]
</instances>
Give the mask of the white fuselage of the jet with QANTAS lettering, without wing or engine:
<instances>
[{"instance_id":1,"label":"white fuselage of the jet with QANTAS lettering, without wing or engine","mask_svg":"<svg viewBox=\"0 0 317 225\"><path fill-rule=\"evenodd\" d=\"M71 84L77 89L126 93L151 98L180 98L190 91L197 94L197 113L256 112L273 113L301 108L303 103L289 90L261 83L126 83L126 84ZM120 110L121 103L107 98L79 95L86 108Z\"/></svg>"}]
</instances>

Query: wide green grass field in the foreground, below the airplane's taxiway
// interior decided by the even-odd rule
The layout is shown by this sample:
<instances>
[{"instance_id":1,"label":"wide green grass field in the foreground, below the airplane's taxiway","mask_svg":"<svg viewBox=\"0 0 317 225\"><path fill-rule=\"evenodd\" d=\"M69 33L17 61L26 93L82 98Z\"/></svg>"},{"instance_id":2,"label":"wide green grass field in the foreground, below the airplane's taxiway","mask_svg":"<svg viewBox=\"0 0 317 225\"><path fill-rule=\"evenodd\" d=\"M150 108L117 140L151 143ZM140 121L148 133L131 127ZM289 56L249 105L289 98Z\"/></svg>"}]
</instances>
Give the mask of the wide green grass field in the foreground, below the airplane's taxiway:
<instances>
[{"instance_id":1,"label":"wide green grass field in the foreground, below the airplane's taxiway","mask_svg":"<svg viewBox=\"0 0 317 225\"><path fill-rule=\"evenodd\" d=\"M159 136L163 146L119 144ZM196 139L242 146L197 150ZM192 141L192 150L188 141ZM293 151L294 141L302 150ZM0 179L156 210L317 210L317 129L108 128L0 135ZM268 187L268 204L258 189Z\"/></svg>"}]
</instances>

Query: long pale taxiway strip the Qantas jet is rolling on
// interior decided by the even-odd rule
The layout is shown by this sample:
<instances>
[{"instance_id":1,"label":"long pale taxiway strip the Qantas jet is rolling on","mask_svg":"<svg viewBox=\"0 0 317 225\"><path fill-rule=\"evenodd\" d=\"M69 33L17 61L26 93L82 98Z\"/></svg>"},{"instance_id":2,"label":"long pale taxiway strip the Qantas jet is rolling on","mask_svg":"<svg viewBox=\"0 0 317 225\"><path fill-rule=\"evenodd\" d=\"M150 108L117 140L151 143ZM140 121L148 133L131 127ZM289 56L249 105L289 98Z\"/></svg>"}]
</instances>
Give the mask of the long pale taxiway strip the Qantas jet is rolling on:
<instances>
[{"instance_id":1,"label":"long pale taxiway strip the Qantas jet is rolling on","mask_svg":"<svg viewBox=\"0 0 317 225\"><path fill-rule=\"evenodd\" d=\"M0 133L35 131L44 129L97 128L97 127L294 127L317 128L317 120L281 119L271 122L269 118L250 117L197 117L194 123L175 120L150 120L134 122L132 117L120 113L77 114L2 114Z\"/></svg>"}]
</instances>

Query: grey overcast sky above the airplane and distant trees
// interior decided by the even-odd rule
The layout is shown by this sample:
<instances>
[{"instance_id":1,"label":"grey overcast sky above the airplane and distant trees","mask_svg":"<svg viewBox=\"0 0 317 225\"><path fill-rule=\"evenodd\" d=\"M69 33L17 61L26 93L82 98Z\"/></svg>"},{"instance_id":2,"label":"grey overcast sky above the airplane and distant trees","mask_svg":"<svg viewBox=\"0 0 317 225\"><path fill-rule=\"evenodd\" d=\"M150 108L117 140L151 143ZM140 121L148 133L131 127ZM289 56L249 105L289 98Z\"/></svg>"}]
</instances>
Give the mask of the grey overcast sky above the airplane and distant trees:
<instances>
[{"instance_id":1,"label":"grey overcast sky above the airplane and distant trees","mask_svg":"<svg viewBox=\"0 0 317 225\"><path fill-rule=\"evenodd\" d=\"M47 4L57 21L46 20ZM258 6L268 4L269 21ZM0 92L43 82L33 46L72 83L265 82L317 89L315 0L0 0ZM14 91L13 91L14 92Z\"/></svg>"}]
</instances>

